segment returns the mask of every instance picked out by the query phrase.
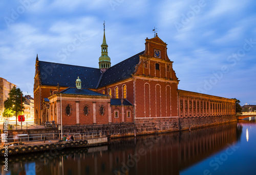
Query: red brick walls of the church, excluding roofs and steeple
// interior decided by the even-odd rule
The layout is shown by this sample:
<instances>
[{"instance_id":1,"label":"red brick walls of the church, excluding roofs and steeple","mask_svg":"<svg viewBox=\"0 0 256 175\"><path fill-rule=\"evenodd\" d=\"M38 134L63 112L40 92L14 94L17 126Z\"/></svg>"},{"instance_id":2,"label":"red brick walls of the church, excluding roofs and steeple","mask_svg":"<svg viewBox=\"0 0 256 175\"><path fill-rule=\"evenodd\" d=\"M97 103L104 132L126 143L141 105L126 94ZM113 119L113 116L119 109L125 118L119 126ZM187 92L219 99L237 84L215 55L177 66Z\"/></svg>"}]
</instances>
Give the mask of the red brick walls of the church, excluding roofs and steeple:
<instances>
[{"instance_id":1,"label":"red brick walls of the church, excluding roofs and steeple","mask_svg":"<svg viewBox=\"0 0 256 175\"><path fill-rule=\"evenodd\" d=\"M173 61L167 56L167 44L158 36L145 41L145 51L139 55L139 63L135 68L131 68L131 77L91 89L108 96L62 96L63 125L135 123L137 131L148 133L156 130L178 130L179 118L235 114L234 100L178 90L179 80L173 70ZM61 86L59 91L66 88ZM46 121L46 114L42 112L42 101L49 98L48 119L60 124L60 94L49 97L50 90L57 91L57 88L40 85L37 58L34 84L35 118ZM126 99L132 105L110 105L111 98ZM71 106L69 116L65 111L68 105ZM84 114L84 106L89 108L87 115ZM99 113L100 106L104 106L103 115Z\"/></svg>"}]
</instances>

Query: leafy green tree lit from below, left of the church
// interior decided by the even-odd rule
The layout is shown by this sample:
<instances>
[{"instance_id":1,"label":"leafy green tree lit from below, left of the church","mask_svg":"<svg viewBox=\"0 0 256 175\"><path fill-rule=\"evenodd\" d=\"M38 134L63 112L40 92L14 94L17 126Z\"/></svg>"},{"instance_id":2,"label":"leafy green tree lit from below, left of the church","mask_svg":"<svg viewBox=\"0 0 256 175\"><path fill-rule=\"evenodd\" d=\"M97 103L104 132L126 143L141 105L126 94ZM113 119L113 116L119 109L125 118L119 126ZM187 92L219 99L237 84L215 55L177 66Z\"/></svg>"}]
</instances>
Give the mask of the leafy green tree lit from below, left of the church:
<instances>
[{"instance_id":1,"label":"leafy green tree lit from below, left of the church","mask_svg":"<svg viewBox=\"0 0 256 175\"><path fill-rule=\"evenodd\" d=\"M20 91L19 88L16 88L16 86L13 86L10 93L8 94L9 98L5 101L5 108L8 110L11 110L16 115L16 124L17 124L17 115L19 113L22 114L24 112L24 101L25 97L23 97L22 91Z\"/></svg>"}]
</instances>

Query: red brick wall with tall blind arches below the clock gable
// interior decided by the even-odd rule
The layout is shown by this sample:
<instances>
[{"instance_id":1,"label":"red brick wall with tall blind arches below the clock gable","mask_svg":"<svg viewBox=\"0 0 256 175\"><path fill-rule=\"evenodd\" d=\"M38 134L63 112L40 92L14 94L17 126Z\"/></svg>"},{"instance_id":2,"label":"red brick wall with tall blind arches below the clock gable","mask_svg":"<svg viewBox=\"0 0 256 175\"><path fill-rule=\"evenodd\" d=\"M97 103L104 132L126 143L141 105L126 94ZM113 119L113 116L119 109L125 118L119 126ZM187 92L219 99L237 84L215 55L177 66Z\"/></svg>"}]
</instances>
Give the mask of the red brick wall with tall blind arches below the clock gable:
<instances>
[{"instance_id":1,"label":"red brick wall with tall blind arches below the clock gable","mask_svg":"<svg viewBox=\"0 0 256 175\"><path fill-rule=\"evenodd\" d=\"M177 117L177 84L137 79L136 118Z\"/></svg>"}]
</instances>

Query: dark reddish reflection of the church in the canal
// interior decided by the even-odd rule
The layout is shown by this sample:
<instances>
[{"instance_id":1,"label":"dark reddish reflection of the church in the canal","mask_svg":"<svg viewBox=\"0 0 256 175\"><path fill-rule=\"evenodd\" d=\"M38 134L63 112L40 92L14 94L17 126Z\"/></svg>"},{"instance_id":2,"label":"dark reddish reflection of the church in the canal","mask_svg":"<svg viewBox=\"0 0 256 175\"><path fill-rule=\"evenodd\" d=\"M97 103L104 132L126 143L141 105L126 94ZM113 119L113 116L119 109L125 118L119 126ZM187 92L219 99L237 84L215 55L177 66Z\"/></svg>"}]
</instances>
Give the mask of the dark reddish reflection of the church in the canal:
<instances>
[{"instance_id":1,"label":"dark reddish reflection of the church in the canal","mask_svg":"<svg viewBox=\"0 0 256 175\"><path fill-rule=\"evenodd\" d=\"M35 161L36 174L179 174L239 141L242 129L237 123L191 132L122 138L108 146L51 150L43 154L10 158L27 166ZM20 161L20 160L23 161ZM143 168L141 168L143 167ZM24 168L23 168L24 169ZM18 169L16 169L18 170Z\"/></svg>"}]
</instances>

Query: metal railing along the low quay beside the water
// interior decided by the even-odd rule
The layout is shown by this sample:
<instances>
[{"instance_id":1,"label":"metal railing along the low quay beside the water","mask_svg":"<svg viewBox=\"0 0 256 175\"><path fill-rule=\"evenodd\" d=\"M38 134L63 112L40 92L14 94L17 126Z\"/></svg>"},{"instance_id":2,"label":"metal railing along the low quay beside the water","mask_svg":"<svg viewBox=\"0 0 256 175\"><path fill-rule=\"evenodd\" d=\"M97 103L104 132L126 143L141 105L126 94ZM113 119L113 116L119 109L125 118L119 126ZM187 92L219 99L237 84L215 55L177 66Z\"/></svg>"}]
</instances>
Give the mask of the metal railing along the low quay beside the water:
<instances>
[{"instance_id":1,"label":"metal railing along the low quay beside the water","mask_svg":"<svg viewBox=\"0 0 256 175\"><path fill-rule=\"evenodd\" d=\"M93 138L101 138L104 137L102 132L88 132L88 133L63 133L62 136L73 136L74 141L76 140L84 140L84 139L93 139ZM14 136L8 136L7 143L15 143L15 142L31 142L31 141L48 141L51 140L62 140L60 133L49 133L49 134L17 134ZM1 139L0 139L1 140Z\"/></svg>"}]
</instances>

